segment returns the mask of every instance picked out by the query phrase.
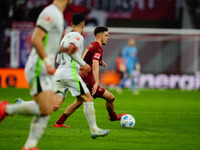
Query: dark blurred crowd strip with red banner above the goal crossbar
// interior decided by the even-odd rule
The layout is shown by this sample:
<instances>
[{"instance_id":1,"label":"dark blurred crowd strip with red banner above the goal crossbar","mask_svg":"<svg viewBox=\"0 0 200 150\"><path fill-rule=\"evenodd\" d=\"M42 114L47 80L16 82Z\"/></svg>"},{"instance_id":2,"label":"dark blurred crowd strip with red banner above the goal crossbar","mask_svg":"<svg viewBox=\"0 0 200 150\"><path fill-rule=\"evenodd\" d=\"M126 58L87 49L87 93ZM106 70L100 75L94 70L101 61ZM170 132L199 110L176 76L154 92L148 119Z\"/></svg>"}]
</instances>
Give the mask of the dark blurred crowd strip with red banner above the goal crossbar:
<instances>
[{"instance_id":1,"label":"dark blurred crowd strip with red banner above the goal crossbar","mask_svg":"<svg viewBox=\"0 0 200 150\"><path fill-rule=\"evenodd\" d=\"M0 19L9 27L13 21L35 22L53 0L1 0ZM200 26L200 0L72 0L64 12L66 25L73 13L84 13L88 25L146 28L182 28L184 10L195 28ZM120 20L123 20L120 21Z\"/></svg>"}]
</instances>

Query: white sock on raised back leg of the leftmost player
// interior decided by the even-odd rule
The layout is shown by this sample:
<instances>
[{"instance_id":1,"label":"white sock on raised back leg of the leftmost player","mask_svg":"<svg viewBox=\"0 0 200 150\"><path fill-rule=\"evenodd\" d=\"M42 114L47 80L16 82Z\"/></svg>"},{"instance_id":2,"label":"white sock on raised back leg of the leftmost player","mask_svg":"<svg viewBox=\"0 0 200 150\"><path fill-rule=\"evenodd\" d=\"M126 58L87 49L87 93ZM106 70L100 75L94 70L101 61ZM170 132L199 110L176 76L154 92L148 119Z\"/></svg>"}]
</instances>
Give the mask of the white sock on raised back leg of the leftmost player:
<instances>
[{"instance_id":1,"label":"white sock on raised back leg of the leftmost player","mask_svg":"<svg viewBox=\"0 0 200 150\"><path fill-rule=\"evenodd\" d=\"M35 101L27 101L20 104L8 104L5 112L9 115L36 115L40 116L40 109Z\"/></svg>"}]
</instances>

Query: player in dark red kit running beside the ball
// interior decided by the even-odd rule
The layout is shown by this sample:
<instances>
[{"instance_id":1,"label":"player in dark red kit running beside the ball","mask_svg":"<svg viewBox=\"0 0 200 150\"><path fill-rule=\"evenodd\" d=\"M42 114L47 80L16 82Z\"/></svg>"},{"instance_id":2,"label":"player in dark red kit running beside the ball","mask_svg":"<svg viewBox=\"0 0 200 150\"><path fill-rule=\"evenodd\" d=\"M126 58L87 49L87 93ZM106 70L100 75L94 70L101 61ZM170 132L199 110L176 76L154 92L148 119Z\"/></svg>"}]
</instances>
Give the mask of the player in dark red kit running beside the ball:
<instances>
[{"instance_id":1,"label":"player in dark red kit running beside the ball","mask_svg":"<svg viewBox=\"0 0 200 150\"><path fill-rule=\"evenodd\" d=\"M102 60L103 49L102 46L106 45L108 42L108 28L106 27L96 27L94 30L95 41L90 43L85 52L82 55L83 60L89 64L92 68L88 75L85 75L80 70L80 75L83 81L86 83L88 89L90 90L93 98L101 97L106 100L106 109L110 116L111 121L120 120L122 115L117 115L114 111L114 100L115 97L112 93L104 89L99 85L99 66L107 67L107 64ZM63 126L66 119L82 105L82 102L75 101L69 105L62 116L54 124L54 127L66 127Z\"/></svg>"}]
</instances>

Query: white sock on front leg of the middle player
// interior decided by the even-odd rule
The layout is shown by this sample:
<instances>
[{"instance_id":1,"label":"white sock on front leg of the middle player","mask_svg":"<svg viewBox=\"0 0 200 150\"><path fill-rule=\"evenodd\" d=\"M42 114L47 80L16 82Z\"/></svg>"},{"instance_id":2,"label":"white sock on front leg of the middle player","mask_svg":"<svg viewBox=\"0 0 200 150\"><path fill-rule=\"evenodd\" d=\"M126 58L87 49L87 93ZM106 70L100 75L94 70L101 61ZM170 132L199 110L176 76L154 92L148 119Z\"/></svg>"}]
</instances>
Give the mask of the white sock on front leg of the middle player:
<instances>
[{"instance_id":1,"label":"white sock on front leg of the middle player","mask_svg":"<svg viewBox=\"0 0 200 150\"><path fill-rule=\"evenodd\" d=\"M90 130L95 132L97 131L97 124L96 124L96 115L94 110L94 103L93 102L85 102L84 104L84 113L87 118L87 121L90 126Z\"/></svg>"}]
</instances>

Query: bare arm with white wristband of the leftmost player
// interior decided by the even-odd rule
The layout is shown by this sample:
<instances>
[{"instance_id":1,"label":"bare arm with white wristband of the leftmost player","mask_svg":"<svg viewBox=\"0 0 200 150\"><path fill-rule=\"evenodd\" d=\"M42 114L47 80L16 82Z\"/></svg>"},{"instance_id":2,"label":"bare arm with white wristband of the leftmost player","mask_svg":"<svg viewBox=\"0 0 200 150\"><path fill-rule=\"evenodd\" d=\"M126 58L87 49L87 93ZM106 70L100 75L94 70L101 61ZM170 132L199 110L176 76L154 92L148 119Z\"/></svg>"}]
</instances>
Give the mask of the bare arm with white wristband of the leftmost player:
<instances>
[{"instance_id":1,"label":"bare arm with white wristband of the leftmost player","mask_svg":"<svg viewBox=\"0 0 200 150\"><path fill-rule=\"evenodd\" d=\"M55 72L55 68L52 66L51 60L45 53L45 49L44 49L43 39L45 38L45 35L46 35L46 31L44 31L40 27L36 27L33 31L31 42L33 46L35 47L39 57L43 59L46 65L47 73L53 75Z\"/></svg>"}]
</instances>

